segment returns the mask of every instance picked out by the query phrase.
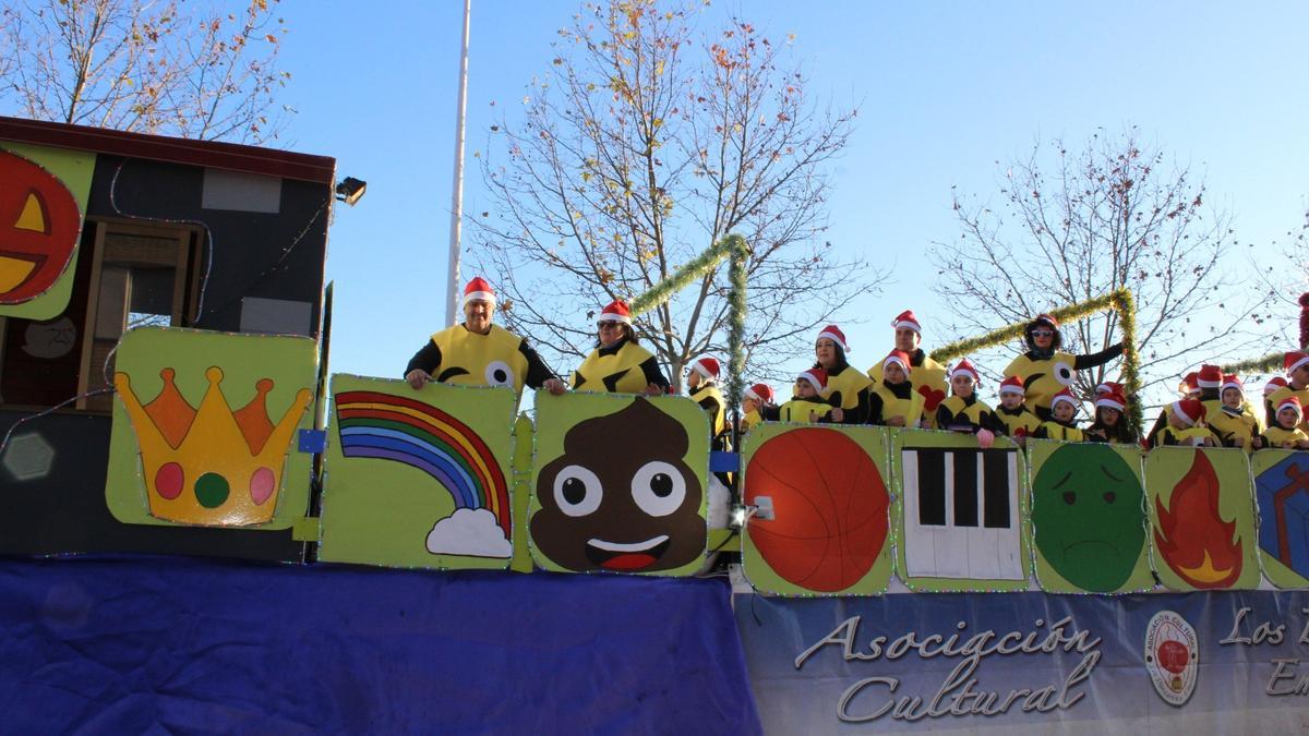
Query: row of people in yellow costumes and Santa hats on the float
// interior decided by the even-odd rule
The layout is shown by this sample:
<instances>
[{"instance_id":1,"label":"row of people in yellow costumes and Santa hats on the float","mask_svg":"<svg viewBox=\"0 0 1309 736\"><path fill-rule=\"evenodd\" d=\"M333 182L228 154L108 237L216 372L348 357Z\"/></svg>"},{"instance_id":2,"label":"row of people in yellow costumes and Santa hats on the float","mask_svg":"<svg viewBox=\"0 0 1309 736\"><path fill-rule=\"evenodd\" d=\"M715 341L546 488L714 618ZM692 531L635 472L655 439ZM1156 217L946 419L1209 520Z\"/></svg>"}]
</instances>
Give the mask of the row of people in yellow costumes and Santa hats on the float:
<instances>
[{"instance_id":1,"label":"row of people in yellow costumes and Santa hats on the float","mask_svg":"<svg viewBox=\"0 0 1309 736\"><path fill-rule=\"evenodd\" d=\"M406 380L419 389L425 382L526 385L559 396L565 390L656 396L670 382L658 360L641 347L626 303L605 306L596 321L596 344L565 384L528 346L492 323L495 291L482 278L469 282L463 293L465 321L436 333L414 355ZM850 365L850 344L836 325L823 327L814 339L814 364L795 378L791 397L780 401L767 384L754 384L741 397L740 432L759 422L876 424L935 428L977 435L987 448L996 435L1020 444L1026 437L1064 441L1101 441L1160 445L1234 447L1246 452L1262 448L1309 449L1309 354L1285 354L1285 377L1263 388L1262 411L1255 411L1241 380L1223 375L1216 365L1202 365L1187 375L1177 401L1168 403L1144 437L1138 437L1127 419L1134 397L1123 385L1102 382L1093 398L1090 423L1083 426L1083 401L1071 386L1077 371L1103 365L1123 354L1123 346L1072 355L1062 350L1059 322L1039 314L1024 330L1028 348L1004 369L999 406L978 397L982 377L967 360L946 368L920 347L923 327L911 310L891 321L894 348L867 372ZM732 422L721 392L723 367L712 356L690 364L687 390L708 414L713 449L728 449Z\"/></svg>"}]
</instances>

